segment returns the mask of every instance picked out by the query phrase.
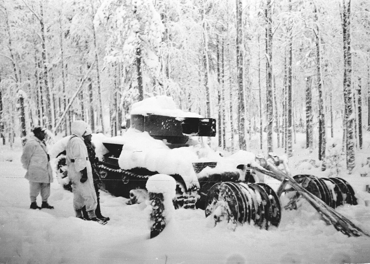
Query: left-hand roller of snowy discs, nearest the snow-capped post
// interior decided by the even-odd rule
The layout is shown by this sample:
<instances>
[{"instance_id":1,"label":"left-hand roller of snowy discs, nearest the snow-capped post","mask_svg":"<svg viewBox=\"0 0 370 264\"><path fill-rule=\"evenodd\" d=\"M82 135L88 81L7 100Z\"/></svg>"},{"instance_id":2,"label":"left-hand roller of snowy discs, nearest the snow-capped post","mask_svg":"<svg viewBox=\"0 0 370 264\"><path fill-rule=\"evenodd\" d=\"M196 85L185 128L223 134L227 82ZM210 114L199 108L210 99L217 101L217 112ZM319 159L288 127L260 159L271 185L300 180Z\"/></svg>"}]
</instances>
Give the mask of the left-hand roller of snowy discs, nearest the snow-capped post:
<instances>
[{"instance_id":1,"label":"left-hand roller of snowy discs, nearest the snow-capped post","mask_svg":"<svg viewBox=\"0 0 370 264\"><path fill-rule=\"evenodd\" d=\"M238 223L249 223L268 230L281 219L279 198L264 183L216 183L208 191L205 206L206 217L213 215L215 225L227 221L233 229Z\"/></svg>"}]
</instances>

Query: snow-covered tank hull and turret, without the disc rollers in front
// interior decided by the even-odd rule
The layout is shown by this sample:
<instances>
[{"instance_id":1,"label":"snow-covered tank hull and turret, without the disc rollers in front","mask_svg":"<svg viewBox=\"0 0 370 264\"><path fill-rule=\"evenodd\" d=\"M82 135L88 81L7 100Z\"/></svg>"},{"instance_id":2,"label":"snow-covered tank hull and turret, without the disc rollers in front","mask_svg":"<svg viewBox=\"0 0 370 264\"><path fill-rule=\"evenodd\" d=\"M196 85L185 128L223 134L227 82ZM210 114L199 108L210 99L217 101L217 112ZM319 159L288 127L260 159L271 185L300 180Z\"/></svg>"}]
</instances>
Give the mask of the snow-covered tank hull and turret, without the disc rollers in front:
<instances>
[{"instance_id":1,"label":"snow-covered tank hull and turret, without the disc rollers in front","mask_svg":"<svg viewBox=\"0 0 370 264\"><path fill-rule=\"evenodd\" d=\"M176 207L194 208L196 204L204 208L213 184L245 180L245 171L236 163L217 169L223 157L202 141L215 137L216 120L183 112L170 97L151 97L134 104L127 123L122 136L102 141L108 152L101 157L101 188L115 196L134 203L145 194L150 176L168 174L177 183ZM205 168L214 170L202 173Z\"/></svg>"}]
</instances>

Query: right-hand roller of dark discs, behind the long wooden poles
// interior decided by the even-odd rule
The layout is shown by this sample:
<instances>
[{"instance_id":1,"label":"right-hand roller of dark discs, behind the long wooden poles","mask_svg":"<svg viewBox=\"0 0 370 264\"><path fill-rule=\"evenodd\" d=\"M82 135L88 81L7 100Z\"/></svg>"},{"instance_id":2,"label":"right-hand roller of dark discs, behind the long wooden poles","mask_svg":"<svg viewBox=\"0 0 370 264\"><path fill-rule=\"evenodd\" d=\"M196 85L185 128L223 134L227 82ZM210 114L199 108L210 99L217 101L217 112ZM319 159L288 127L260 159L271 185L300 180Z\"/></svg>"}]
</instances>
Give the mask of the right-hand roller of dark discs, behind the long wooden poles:
<instances>
[{"instance_id":1,"label":"right-hand roller of dark discs, behind the long wooden poles","mask_svg":"<svg viewBox=\"0 0 370 264\"><path fill-rule=\"evenodd\" d=\"M336 208L344 203L356 205L357 199L354 195L353 188L350 184L342 178L329 177L319 178L313 175L296 175L293 177L297 183L301 184L303 188L312 193L314 196L320 198L324 203L332 208ZM288 185L289 186L289 183ZM294 191L292 188L286 187L285 193ZM295 192L295 191L294 191ZM292 208L299 199L300 195L296 195L291 199L285 208Z\"/></svg>"}]
</instances>

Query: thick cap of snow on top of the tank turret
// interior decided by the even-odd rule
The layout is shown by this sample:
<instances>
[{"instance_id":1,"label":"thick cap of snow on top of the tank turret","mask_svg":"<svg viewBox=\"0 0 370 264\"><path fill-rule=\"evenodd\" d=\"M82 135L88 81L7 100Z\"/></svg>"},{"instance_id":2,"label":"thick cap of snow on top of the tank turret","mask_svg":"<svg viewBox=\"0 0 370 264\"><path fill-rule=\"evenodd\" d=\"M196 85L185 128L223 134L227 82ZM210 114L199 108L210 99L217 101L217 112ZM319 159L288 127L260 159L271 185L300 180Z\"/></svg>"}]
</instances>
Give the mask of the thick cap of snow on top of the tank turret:
<instances>
[{"instance_id":1,"label":"thick cap of snow on top of the tank turret","mask_svg":"<svg viewBox=\"0 0 370 264\"><path fill-rule=\"evenodd\" d=\"M157 114L160 116L171 117L199 117L201 115L191 112L184 112L177 108L174 99L169 96L155 96L149 97L131 107L131 114L141 114L147 116L148 114Z\"/></svg>"}]
</instances>

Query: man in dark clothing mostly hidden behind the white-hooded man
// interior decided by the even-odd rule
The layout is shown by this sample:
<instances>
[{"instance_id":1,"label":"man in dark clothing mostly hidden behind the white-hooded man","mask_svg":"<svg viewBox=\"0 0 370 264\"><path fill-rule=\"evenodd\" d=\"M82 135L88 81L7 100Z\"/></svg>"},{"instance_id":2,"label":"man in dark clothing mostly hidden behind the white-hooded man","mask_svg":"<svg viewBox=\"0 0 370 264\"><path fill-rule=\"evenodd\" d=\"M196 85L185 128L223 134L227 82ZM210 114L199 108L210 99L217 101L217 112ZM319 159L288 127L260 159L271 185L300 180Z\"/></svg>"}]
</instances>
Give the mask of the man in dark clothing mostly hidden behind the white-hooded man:
<instances>
[{"instance_id":1,"label":"man in dark clothing mostly hidden behind the white-hooded man","mask_svg":"<svg viewBox=\"0 0 370 264\"><path fill-rule=\"evenodd\" d=\"M89 160L91 163L91 168L92 168L92 179L94 181L94 188L95 188L95 193L97 197L97 207L95 209L95 215L97 218L103 220L103 221L108 221L110 218L105 217L101 214L100 211L100 198L99 198L99 188L98 188L98 182L100 182L100 175L99 175L99 168L98 168L98 158L95 155L95 145L91 142L91 130L86 132L84 135L84 142L87 148L87 153L89 156ZM84 218L88 218L87 213L86 213L86 208L82 208Z\"/></svg>"}]
</instances>

